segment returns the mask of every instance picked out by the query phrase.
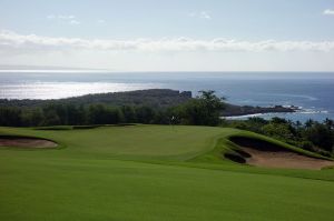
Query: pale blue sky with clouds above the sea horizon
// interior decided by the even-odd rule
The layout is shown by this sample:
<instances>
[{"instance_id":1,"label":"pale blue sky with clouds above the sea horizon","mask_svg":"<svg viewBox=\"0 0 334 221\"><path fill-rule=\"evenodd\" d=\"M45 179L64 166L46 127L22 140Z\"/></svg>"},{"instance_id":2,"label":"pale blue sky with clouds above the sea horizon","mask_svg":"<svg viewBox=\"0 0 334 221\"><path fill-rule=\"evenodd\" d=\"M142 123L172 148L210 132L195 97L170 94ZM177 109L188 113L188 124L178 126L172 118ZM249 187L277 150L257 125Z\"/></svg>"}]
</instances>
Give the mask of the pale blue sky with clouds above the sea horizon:
<instances>
[{"instance_id":1,"label":"pale blue sky with clouds above the sea horizon","mask_svg":"<svg viewBox=\"0 0 334 221\"><path fill-rule=\"evenodd\" d=\"M334 71L334 0L0 0L0 68Z\"/></svg>"}]
</instances>

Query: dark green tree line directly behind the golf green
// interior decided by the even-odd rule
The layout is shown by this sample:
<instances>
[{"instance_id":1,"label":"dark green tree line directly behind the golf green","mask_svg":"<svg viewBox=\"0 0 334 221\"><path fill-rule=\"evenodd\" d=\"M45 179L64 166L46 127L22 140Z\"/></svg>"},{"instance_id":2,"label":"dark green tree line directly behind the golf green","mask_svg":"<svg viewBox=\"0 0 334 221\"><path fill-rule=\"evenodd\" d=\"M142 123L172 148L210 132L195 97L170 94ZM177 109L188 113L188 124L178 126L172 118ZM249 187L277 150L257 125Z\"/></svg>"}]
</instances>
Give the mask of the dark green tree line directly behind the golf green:
<instances>
[{"instance_id":1,"label":"dark green tree line directly behind the golf green","mask_svg":"<svg viewBox=\"0 0 334 221\"><path fill-rule=\"evenodd\" d=\"M84 125L117 123L217 125L223 99L214 91L202 91L195 99L168 108L153 106L110 106L106 103L48 102L40 107L0 107L0 125Z\"/></svg>"}]
</instances>

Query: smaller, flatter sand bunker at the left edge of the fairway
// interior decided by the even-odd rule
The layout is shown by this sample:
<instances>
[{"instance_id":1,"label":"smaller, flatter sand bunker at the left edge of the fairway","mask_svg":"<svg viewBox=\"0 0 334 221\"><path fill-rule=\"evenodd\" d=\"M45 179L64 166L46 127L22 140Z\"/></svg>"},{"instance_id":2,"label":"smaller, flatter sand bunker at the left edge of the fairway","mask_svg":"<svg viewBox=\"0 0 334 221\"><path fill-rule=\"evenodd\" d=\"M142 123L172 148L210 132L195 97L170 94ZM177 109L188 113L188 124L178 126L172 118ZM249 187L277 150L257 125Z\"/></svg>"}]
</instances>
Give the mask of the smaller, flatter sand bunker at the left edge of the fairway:
<instances>
[{"instance_id":1,"label":"smaller, flatter sand bunker at the left edge of the fairway","mask_svg":"<svg viewBox=\"0 0 334 221\"><path fill-rule=\"evenodd\" d=\"M0 137L0 147L17 147L17 148L55 148L57 143L37 138L28 137Z\"/></svg>"}]
</instances>

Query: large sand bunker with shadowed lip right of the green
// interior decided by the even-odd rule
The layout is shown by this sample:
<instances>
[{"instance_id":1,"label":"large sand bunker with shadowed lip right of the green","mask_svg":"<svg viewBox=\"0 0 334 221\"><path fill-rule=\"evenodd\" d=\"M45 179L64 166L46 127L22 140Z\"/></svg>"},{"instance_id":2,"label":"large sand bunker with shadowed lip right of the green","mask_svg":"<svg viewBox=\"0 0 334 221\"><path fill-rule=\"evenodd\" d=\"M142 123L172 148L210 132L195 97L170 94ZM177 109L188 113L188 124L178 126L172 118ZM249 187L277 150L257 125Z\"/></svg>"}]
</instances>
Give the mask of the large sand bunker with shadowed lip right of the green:
<instances>
[{"instance_id":1,"label":"large sand bunker with shadowed lip right of the green","mask_svg":"<svg viewBox=\"0 0 334 221\"><path fill-rule=\"evenodd\" d=\"M334 164L333 161L302 155L262 140L233 137L230 141L240 147L238 162L244 159L244 163L250 165L320 170Z\"/></svg>"}]
</instances>

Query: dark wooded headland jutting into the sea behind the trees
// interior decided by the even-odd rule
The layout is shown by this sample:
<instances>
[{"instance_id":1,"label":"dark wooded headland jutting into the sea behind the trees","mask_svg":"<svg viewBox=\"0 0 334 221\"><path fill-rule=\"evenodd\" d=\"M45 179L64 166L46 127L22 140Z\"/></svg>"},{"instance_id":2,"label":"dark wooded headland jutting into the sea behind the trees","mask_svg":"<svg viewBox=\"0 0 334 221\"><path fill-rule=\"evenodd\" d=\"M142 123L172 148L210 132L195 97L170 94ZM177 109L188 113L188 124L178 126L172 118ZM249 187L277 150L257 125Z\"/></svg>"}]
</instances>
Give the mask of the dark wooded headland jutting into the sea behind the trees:
<instances>
[{"instance_id":1,"label":"dark wooded headland jutting into the sea behind the trees","mask_svg":"<svg viewBox=\"0 0 334 221\"><path fill-rule=\"evenodd\" d=\"M6 107L41 107L48 103L71 103L77 106L86 106L94 103L104 103L108 106L148 106L154 108L169 108L181 104L193 99L191 91L178 91L171 89L148 89L136 90L126 92L110 92L110 93L96 93L87 94L66 99L23 99L23 100L9 100L0 99L0 106ZM220 112L222 117L236 117L256 113L274 113L274 112L296 112L298 107L253 107L253 106L236 106L225 103Z\"/></svg>"}]
</instances>

